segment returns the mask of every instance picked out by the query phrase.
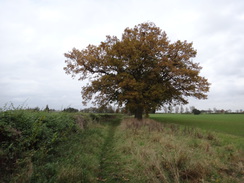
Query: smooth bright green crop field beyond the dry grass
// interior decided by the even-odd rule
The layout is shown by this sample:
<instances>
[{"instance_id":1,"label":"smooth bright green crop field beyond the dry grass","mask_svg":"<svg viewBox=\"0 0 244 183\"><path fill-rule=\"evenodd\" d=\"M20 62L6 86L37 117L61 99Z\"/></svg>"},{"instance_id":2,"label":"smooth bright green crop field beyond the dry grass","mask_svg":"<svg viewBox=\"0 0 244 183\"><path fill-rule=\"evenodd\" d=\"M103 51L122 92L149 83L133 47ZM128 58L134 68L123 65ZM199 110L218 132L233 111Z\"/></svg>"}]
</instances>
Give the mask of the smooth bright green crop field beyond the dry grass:
<instances>
[{"instance_id":1,"label":"smooth bright green crop field beyond the dry grass","mask_svg":"<svg viewBox=\"0 0 244 183\"><path fill-rule=\"evenodd\" d=\"M164 123L199 127L244 137L244 115L242 114L151 114L150 118Z\"/></svg>"}]
</instances>

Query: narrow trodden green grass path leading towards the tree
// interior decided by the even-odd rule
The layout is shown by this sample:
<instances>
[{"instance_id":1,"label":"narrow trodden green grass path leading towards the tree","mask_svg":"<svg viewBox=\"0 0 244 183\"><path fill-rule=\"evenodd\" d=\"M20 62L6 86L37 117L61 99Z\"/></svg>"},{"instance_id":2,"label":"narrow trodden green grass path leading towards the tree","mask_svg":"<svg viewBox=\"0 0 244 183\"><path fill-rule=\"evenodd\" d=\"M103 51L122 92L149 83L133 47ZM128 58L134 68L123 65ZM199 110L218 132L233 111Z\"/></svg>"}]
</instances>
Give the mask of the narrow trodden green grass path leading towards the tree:
<instances>
[{"instance_id":1,"label":"narrow trodden green grass path leading towards the tree","mask_svg":"<svg viewBox=\"0 0 244 183\"><path fill-rule=\"evenodd\" d=\"M120 119L111 120L108 125L107 136L105 138L101 155L100 170L97 180L99 182L122 182L123 177L120 174L120 157L114 149L115 133L120 125Z\"/></svg>"}]
</instances>

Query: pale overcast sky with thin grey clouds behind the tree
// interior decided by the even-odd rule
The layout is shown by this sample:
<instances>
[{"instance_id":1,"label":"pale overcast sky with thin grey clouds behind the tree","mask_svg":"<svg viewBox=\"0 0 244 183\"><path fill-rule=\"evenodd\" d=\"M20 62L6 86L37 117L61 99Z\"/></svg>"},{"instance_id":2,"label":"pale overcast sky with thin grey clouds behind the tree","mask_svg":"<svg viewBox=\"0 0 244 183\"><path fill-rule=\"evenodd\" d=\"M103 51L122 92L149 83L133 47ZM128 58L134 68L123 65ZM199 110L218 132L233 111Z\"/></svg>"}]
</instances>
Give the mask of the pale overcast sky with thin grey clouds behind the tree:
<instances>
[{"instance_id":1,"label":"pale overcast sky with thin grey clouds behind the tree","mask_svg":"<svg viewBox=\"0 0 244 183\"><path fill-rule=\"evenodd\" d=\"M244 110L243 0L0 0L0 107L84 108L63 54L148 21L198 51L211 88L188 106Z\"/></svg>"}]
</instances>

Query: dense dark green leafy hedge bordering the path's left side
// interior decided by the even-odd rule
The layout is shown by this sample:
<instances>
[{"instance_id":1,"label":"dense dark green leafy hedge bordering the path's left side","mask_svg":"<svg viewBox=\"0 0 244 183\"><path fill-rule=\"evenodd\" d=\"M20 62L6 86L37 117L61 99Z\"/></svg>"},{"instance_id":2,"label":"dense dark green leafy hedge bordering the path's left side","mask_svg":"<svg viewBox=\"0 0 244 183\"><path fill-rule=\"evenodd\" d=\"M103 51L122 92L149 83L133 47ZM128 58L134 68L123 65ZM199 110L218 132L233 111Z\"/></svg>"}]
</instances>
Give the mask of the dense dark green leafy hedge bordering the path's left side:
<instances>
[{"instance_id":1,"label":"dense dark green leafy hedge bordering the path's left side","mask_svg":"<svg viewBox=\"0 0 244 183\"><path fill-rule=\"evenodd\" d=\"M30 172L32 175L33 164L42 164L59 156L56 147L76 131L78 127L74 118L67 113L27 110L0 112L2 181L9 182L11 175L16 182L22 179L25 182L25 174L20 172Z\"/></svg>"}]
</instances>

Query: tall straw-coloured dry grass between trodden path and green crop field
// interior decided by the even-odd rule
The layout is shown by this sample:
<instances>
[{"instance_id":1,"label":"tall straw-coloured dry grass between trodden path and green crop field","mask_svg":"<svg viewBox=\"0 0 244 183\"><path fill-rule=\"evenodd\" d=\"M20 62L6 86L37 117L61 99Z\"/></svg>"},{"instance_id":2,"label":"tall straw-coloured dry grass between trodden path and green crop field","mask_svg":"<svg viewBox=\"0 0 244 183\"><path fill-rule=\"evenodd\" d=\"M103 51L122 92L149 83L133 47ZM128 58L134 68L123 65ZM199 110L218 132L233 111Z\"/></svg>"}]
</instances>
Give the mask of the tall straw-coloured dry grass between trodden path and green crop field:
<instances>
[{"instance_id":1,"label":"tall straw-coloured dry grass between trodden path and green crop field","mask_svg":"<svg viewBox=\"0 0 244 183\"><path fill-rule=\"evenodd\" d=\"M242 181L243 154L219 143L213 133L150 119L125 119L117 132L117 150L124 156L124 171L133 175L131 182Z\"/></svg>"}]
</instances>

